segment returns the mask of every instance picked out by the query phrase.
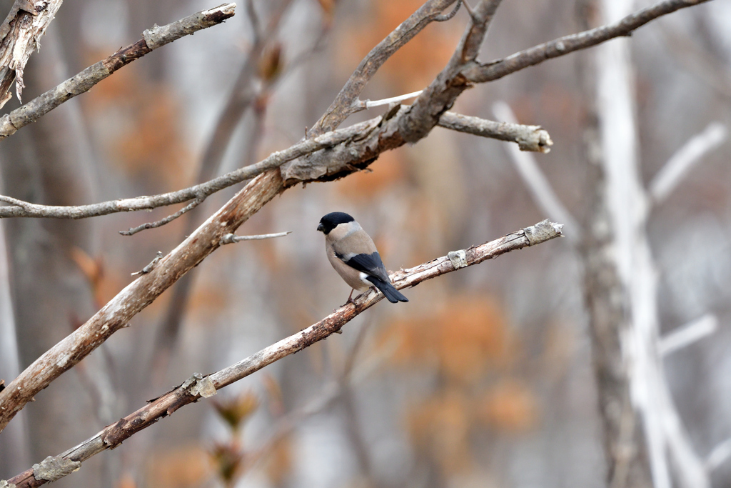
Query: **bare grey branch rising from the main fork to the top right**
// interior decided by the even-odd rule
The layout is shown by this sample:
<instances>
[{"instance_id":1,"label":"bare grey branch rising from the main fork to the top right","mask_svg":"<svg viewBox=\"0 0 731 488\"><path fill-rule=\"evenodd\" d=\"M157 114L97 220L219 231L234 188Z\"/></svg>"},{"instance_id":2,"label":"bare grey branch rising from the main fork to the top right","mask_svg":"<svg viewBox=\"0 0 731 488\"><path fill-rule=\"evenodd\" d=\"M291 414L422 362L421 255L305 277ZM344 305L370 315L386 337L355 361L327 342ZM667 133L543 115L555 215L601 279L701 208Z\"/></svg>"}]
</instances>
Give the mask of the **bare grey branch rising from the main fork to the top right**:
<instances>
[{"instance_id":1,"label":"bare grey branch rising from the main fork to the top right","mask_svg":"<svg viewBox=\"0 0 731 488\"><path fill-rule=\"evenodd\" d=\"M662 15L681 10L686 7L702 4L708 0L664 0L651 7L638 10L632 15L615 23L597 27L588 31L559 37L526 50L515 53L507 58L496 59L485 64L476 63L464 70L462 74L466 80L473 83L485 83L498 80L510 73L523 70L529 66L540 64L547 59L558 58L572 53L575 50L591 48L615 37L629 36L632 31L644 26Z\"/></svg>"}]
</instances>

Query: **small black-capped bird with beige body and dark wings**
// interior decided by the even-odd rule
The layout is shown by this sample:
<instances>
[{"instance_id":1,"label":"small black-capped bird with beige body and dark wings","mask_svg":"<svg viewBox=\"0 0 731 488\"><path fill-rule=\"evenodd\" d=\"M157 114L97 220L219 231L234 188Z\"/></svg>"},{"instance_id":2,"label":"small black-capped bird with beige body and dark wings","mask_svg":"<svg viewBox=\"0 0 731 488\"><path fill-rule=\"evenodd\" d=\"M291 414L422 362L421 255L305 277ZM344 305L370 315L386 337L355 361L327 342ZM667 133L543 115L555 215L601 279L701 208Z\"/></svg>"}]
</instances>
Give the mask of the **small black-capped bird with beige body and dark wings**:
<instances>
[{"instance_id":1,"label":"small black-capped bird with beige body and dark wings","mask_svg":"<svg viewBox=\"0 0 731 488\"><path fill-rule=\"evenodd\" d=\"M317 230L325 234L327 259L353 290L365 291L375 286L392 304L409 301L393 288L376 244L353 217L331 212L320 219ZM353 290L346 303L353 301Z\"/></svg>"}]
</instances>

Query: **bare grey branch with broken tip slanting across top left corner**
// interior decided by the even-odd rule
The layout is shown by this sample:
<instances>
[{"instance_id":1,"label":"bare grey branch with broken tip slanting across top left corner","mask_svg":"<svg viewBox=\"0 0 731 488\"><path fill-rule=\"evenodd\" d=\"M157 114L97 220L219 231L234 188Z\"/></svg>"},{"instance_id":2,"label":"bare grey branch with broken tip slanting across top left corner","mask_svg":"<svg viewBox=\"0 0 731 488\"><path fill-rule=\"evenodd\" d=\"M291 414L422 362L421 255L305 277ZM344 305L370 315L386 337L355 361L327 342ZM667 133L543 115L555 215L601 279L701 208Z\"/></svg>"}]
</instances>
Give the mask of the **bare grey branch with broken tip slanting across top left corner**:
<instances>
[{"instance_id":1,"label":"bare grey branch with broken tip slanting across top left corner","mask_svg":"<svg viewBox=\"0 0 731 488\"><path fill-rule=\"evenodd\" d=\"M61 2L58 1L58 4L61 4ZM155 26L144 31L143 38L135 44L122 48L107 59L92 64L86 70L56 86L56 88L46 91L26 103L26 105L2 116L0 118L0 140L15 134L20 127L31 124L50 112L50 110L61 105L61 103L88 91L96 83L109 77L119 68L135 61L135 59L140 59L152 50L183 36L194 34L201 29L216 26L227 18L233 17L235 7L236 4L223 4L220 7L203 10L165 26ZM39 17L40 15L43 14L39 14ZM18 82L20 82L20 78Z\"/></svg>"}]
</instances>

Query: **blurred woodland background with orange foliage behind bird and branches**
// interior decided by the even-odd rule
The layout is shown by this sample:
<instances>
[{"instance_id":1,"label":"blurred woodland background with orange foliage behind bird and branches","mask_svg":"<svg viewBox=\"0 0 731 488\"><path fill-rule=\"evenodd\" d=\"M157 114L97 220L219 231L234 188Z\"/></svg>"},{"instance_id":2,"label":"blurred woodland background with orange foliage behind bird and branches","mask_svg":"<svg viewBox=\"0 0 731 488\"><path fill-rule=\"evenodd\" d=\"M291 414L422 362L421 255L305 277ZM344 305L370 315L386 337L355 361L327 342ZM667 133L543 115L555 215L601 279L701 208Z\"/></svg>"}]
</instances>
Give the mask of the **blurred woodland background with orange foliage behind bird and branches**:
<instances>
[{"instance_id":1,"label":"blurred woodland background with orange foliage behind bird and branches","mask_svg":"<svg viewBox=\"0 0 731 488\"><path fill-rule=\"evenodd\" d=\"M420 0L254 0L234 18L155 50L0 143L2 192L77 205L181 189L303 137L371 48ZM641 2L640 2L641 3ZM2 11L12 1L0 2ZM214 7L195 0L67 2L31 57L24 101L140 39ZM586 2L506 0L480 59L583 29ZM467 22L429 25L361 98L423 89ZM591 20L591 19L590 19ZM252 27L257 26L257 29ZM731 122L731 3L676 12L632 35L644 183L708 124ZM537 165L579 222L595 190L586 70L573 53L466 91L452 110L496 119L505 102L550 132ZM4 113L18 106L12 100ZM358 113L342 127L384 110ZM496 239L550 217L508 143L437 127L361 172L289 189L240 234L292 230L213 253L0 435L0 478L82 442L182 383L299 331L343 304L322 235L352 214L387 269ZM695 454L731 438L731 166L709 151L646 226L662 334L712 314L716 331L664 357ZM0 249L0 378L15 378L173 249L240 185L162 228L175 211L79 221L7 219ZM165 418L58 487L603 487L606 462L582 254L559 239L406 290L330 337ZM714 451L716 449L716 451ZM721 454L723 451L721 450ZM713 487L731 462L707 463Z\"/></svg>"}]
</instances>

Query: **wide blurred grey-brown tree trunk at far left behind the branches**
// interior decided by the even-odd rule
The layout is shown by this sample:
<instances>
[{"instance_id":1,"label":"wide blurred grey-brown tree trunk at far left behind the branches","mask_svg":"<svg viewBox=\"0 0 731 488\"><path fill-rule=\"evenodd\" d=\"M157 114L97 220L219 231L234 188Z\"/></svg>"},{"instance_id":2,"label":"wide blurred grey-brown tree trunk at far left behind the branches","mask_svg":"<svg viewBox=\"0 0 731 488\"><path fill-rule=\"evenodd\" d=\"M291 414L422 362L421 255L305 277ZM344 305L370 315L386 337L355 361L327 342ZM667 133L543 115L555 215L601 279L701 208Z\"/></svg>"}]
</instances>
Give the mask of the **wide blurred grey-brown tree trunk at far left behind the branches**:
<instances>
[{"instance_id":1,"label":"wide blurred grey-brown tree trunk at far left behind the branches","mask_svg":"<svg viewBox=\"0 0 731 488\"><path fill-rule=\"evenodd\" d=\"M31 58L26 71L26 97L55 86L67 75L57 57L61 52L59 42L59 36L47 38L45 49ZM4 195L51 205L77 205L90 200L89 157L80 135L78 110L76 100L67 102L3 141L0 157ZM93 226L91 219L7 221L20 369L94 312L86 277L70 257L73 247L91 254ZM39 394L38 402L29 405L26 414L31 462L64 451L81 440L79 432L90 430L89 419L95 416L89 396L78 394L85 390L77 375L66 375ZM101 486L93 466L85 466L79 478L61 480L58 486Z\"/></svg>"}]
</instances>

